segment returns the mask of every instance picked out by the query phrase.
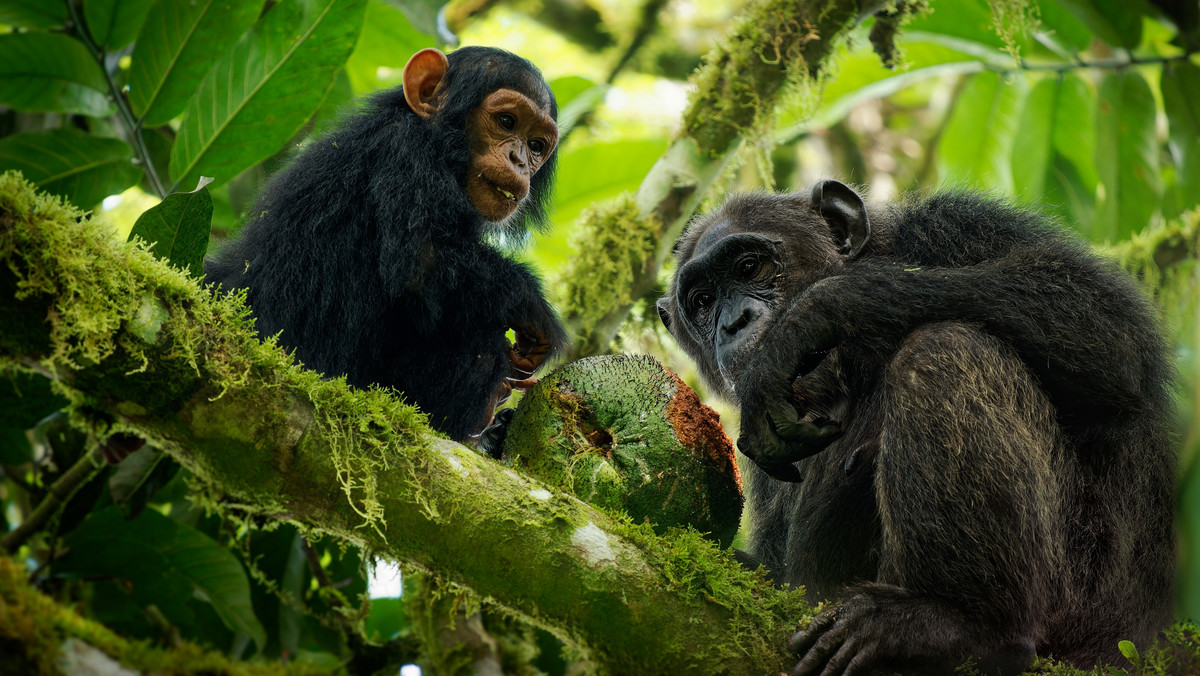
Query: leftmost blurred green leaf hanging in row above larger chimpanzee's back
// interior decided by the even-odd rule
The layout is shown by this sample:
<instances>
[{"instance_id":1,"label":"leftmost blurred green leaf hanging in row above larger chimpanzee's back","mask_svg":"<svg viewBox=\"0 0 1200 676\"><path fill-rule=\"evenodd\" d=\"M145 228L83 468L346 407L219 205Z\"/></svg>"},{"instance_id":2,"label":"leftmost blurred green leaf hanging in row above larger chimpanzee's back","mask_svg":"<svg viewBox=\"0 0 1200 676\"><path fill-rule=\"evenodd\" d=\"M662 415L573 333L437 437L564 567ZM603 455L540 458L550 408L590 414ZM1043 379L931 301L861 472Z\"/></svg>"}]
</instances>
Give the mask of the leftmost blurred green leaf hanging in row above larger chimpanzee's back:
<instances>
[{"instance_id":1,"label":"leftmost blurred green leaf hanging in row above larger chimpanzee's back","mask_svg":"<svg viewBox=\"0 0 1200 676\"><path fill-rule=\"evenodd\" d=\"M1025 84L991 72L972 76L937 142L942 183L1013 192L1012 149Z\"/></svg>"}]
</instances>

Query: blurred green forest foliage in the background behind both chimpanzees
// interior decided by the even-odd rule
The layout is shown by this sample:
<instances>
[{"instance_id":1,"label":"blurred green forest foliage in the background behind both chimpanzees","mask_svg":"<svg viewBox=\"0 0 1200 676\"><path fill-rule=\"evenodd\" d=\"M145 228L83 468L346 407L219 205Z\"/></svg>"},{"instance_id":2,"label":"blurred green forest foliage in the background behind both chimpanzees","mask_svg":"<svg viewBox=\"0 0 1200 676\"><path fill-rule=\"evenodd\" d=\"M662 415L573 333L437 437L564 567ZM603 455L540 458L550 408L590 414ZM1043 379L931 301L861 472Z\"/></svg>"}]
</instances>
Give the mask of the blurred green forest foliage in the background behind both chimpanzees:
<instances>
[{"instance_id":1,"label":"blurred green forest foliage in the background behind both chimpanzees","mask_svg":"<svg viewBox=\"0 0 1200 676\"><path fill-rule=\"evenodd\" d=\"M899 2L911 16L894 68L872 46L889 54L887 22L866 17L835 34L834 56L814 71L797 65L823 37L794 18L805 5L857 7L0 0L0 172L19 171L92 209L113 237L139 238L198 275L263 178L355 96L396 85L412 53L505 47L546 73L565 139L552 228L514 255L539 268L572 330L588 336L584 353L654 354L718 406L653 310L677 234L646 207L664 168L676 183L707 172L694 181L701 208L732 190L821 178L863 184L878 201L946 185L1012 197L1111 252L1163 309L1180 371L1178 615L1200 617L1200 5ZM767 14L778 22L758 20ZM762 65L791 68L778 96L752 89L754 78L713 74L745 24L787 26L750 34ZM730 109L706 103L714 91ZM679 150L688 139L703 152ZM595 330L604 323L611 330ZM206 513L188 498L188 473L150 447L91 465L97 439L64 407L41 376L6 369L0 378L0 536L54 598L125 636L322 669L365 645L409 650L421 633L412 606L367 599L372 563L358 550ZM734 412L721 412L732 432ZM91 469L62 504L14 537L80 467ZM556 640L530 640L538 668L562 672Z\"/></svg>"}]
</instances>

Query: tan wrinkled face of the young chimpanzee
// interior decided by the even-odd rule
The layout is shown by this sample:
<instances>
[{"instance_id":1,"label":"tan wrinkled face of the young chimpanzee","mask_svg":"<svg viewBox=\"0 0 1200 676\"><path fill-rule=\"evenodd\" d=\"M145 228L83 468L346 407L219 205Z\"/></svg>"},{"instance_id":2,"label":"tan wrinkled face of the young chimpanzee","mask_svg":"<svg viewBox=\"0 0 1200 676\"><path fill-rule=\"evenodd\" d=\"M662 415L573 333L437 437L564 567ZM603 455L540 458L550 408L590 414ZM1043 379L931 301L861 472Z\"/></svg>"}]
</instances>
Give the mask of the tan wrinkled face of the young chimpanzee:
<instances>
[{"instance_id":1,"label":"tan wrinkled face of the young chimpanzee","mask_svg":"<svg viewBox=\"0 0 1200 676\"><path fill-rule=\"evenodd\" d=\"M467 198L485 220L503 221L529 196L529 181L558 143L558 125L548 106L499 89L467 118Z\"/></svg>"}]
</instances>

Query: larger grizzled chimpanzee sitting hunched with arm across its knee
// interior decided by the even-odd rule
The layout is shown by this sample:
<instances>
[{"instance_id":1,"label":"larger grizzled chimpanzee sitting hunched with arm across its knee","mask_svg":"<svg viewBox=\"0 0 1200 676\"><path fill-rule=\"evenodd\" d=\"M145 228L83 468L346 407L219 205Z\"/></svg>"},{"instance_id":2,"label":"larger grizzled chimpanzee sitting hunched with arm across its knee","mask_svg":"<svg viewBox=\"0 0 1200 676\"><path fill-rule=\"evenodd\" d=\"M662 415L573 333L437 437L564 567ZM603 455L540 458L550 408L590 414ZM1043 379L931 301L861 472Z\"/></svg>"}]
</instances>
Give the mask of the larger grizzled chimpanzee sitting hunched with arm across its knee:
<instances>
[{"instance_id":1,"label":"larger grizzled chimpanzee sitting hunched with arm across its knee","mask_svg":"<svg viewBox=\"0 0 1200 676\"><path fill-rule=\"evenodd\" d=\"M660 315L761 468L750 554L840 600L796 674L1088 666L1170 621L1171 369L1114 265L994 199L838 181L734 197L677 257Z\"/></svg>"}]
</instances>

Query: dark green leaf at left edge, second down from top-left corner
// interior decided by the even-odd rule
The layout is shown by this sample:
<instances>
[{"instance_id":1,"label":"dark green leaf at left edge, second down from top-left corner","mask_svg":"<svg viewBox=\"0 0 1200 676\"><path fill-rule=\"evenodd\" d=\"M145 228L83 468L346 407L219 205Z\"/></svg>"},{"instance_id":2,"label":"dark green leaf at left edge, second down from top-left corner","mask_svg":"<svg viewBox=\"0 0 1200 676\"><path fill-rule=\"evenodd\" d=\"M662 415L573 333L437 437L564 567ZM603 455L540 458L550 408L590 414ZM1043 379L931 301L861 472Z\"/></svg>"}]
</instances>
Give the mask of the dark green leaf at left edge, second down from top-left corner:
<instances>
[{"instance_id":1,"label":"dark green leaf at left edge, second down from top-left corner","mask_svg":"<svg viewBox=\"0 0 1200 676\"><path fill-rule=\"evenodd\" d=\"M82 42L48 32L0 35L0 103L35 113L116 112L100 65Z\"/></svg>"}]
</instances>

